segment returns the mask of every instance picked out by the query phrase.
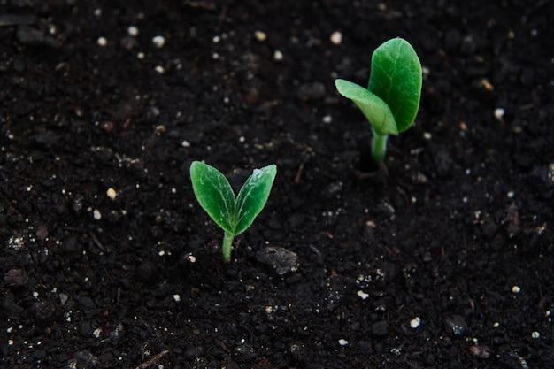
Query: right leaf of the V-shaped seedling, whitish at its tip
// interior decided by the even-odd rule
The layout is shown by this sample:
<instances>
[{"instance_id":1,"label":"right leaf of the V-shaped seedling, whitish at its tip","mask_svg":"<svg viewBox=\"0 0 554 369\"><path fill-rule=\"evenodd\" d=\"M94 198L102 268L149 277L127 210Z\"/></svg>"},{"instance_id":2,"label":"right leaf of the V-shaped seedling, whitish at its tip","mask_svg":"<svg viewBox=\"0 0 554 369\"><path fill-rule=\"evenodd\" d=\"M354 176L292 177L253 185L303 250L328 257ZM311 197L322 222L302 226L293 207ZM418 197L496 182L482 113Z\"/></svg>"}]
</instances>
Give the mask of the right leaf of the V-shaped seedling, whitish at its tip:
<instances>
[{"instance_id":1,"label":"right leaf of the V-shaped seedling, whitish at its tip","mask_svg":"<svg viewBox=\"0 0 554 369\"><path fill-rule=\"evenodd\" d=\"M236 198L235 234L242 234L264 209L276 174L277 166L268 165L254 169L254 173L244 182Z\"/></svg>"}]
</instances>

